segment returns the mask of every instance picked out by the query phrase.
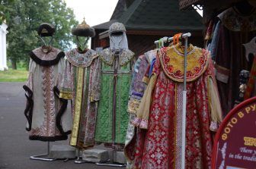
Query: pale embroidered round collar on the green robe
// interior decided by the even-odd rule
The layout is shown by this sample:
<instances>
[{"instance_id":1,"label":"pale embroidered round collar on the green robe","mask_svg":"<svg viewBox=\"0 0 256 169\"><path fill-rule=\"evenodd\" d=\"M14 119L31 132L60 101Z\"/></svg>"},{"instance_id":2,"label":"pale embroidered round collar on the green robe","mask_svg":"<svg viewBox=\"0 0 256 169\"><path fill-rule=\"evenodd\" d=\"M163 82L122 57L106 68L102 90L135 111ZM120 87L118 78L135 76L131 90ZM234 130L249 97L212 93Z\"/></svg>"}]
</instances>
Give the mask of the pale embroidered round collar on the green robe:
<instances>
[{"instance_id":1,"label":"pale embroidered round collar on the green robe","mask_svg":"<svg viewBox=\"0 0 256 169\"><path fill-rule=\"evenodd\" d=\"M115 50L110 50L109 48L104 49L101 52L101 60L104 61L104 63L106 64L113 65L115 52ZM129 49L122 49L119 54L120 65L123 66L125 64L128 64L129 61L133 59L133 56L134 53Z\"/></svg>"}]
</instances>

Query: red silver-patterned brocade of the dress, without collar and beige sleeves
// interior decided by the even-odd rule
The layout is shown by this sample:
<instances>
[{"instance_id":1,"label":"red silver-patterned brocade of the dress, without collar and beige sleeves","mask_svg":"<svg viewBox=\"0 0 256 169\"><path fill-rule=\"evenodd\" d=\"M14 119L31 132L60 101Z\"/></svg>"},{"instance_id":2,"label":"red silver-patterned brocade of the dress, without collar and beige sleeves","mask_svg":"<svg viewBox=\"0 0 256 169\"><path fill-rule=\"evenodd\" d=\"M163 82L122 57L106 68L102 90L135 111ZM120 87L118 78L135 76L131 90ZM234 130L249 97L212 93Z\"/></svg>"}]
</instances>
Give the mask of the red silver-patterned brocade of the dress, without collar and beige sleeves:
<instances>
[{"instance_id":1,"label":"red silver-patterned brocade of the dress, without collar and beige sleeves","mask_svg":"<svg viewBox=\"0 0 256 169\"><path fill-rule=\"evenodd\" d=\"M135 155L132 168L181 168L181 113L183 83L172 80L164 71L161 59L171 48L161 49L156 58L153 74L157 76L149 112L148 130L136 133ZM209 78L214 79L209 52L195 49L200 56L207 56L206 70L196 80L187 82L186 115L186 166L185 168L210 168L212 137L209 108ZM168 55L170 56L170 55ZM188 55L187 61L198 56ZM170 56L171 58L171 56ZM194 63L194 62L192 62ZM187 62L191 64L191 62ZM189 66L188 66L189 67ZM216 83L214 83L216 85ZM219 106L219 102L216 102Z\"/></svg>"}]
</instances>

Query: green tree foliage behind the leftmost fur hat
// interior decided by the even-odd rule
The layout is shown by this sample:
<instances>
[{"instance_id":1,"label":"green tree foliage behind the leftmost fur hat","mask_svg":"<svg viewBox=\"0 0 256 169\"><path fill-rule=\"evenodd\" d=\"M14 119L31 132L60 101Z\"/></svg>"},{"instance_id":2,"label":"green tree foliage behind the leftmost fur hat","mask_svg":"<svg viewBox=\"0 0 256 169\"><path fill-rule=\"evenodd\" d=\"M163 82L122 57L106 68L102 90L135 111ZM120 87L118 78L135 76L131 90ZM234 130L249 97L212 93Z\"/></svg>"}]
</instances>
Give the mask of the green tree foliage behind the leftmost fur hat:
<instances>
[{"instance_id":1,"label":"green tree foliage behind the leftmost fur hat","mask_svg":"<svg viewBox=\"0 0 256 169\"><path fill-rule=\"evenodd\" d=\"M7 55L12 63L26 61L28 53L42 45L37 28L40 23L51 23L56 28L52 45L66 50L72 45L71 29L78 24L71 8L62 0L0 0L8 24ZM1 16L1 15L0 15Z\"/></svg>"}]
</instances>

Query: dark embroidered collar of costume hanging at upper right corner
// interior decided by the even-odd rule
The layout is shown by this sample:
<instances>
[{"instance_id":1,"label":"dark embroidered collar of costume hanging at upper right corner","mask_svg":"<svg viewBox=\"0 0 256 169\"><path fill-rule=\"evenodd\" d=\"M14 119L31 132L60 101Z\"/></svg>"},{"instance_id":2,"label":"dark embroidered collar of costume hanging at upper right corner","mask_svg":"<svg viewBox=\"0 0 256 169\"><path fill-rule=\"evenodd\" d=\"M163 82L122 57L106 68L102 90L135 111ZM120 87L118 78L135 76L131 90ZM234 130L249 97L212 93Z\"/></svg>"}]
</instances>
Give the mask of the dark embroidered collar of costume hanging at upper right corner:
<instances>
[{"instance_id":1,"label":"dark embroidered collar of costume hanging at upper right corner","mask_svg":"<svg viewBox=\"0 0 256 169\"><path fill-rule=\"evenodd\" d=\"M248 16L242 16L234 8L228 8L218 15L219 20L232 31L253 31L256 30L256 11Z\"/></svg>"}]
</instances>

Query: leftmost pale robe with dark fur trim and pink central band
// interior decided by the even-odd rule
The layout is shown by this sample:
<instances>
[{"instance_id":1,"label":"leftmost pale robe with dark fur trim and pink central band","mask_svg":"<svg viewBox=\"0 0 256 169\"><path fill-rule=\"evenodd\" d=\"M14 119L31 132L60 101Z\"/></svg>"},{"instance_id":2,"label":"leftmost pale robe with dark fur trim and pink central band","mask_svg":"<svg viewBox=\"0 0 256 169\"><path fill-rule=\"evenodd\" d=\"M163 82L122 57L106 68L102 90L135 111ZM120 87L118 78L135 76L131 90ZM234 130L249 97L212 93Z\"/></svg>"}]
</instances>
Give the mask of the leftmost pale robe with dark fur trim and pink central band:
<instances>
[{"instance_id":1,"label":"leftmost pale robe with dark fur trim and pink central band","mask_svg":"<svg viewBox=\"0 0 256 169\"><path fill-rule=\"evenodd\" d=\"M59 99L64 52L43 47L30 53L29 77L23 88L26 91L27 130L29 139L56 141L68 139L70 117L66 113L67 102Z\"/></svg>"}]
</instances>

